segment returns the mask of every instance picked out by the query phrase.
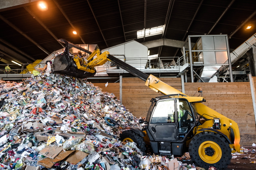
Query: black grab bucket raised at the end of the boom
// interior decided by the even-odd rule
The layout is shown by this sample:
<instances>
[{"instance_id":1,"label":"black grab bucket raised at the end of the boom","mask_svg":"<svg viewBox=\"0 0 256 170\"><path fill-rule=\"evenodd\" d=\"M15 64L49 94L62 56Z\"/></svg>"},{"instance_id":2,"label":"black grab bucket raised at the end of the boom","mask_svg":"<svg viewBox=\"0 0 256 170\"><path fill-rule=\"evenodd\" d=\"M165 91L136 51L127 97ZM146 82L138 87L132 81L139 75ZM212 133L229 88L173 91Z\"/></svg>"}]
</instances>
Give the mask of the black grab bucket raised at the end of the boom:
<instances>
[{"instance_id":1,"label":"black grab bucket raised at the end of the boom","mask_svg":"<svg viewBox=\"0 0 256 170\"><path fill-rule=\"evenodd\" d=\"M78 69L74 60L69 57L69 49L72 47L75 47L88 54L91 53L90 51L84 48L78 47L75 44L72 44L63 39L60 39L59 41L65 43L66 47L65 47L64 53L57 55L53 61L53 70L55 73L68 75L76 78L89 78L89 77L93 77L96 74L95 69L94 69L95 70L94 73L90 73L90 72Z\"/></svg>"}]
</instances>

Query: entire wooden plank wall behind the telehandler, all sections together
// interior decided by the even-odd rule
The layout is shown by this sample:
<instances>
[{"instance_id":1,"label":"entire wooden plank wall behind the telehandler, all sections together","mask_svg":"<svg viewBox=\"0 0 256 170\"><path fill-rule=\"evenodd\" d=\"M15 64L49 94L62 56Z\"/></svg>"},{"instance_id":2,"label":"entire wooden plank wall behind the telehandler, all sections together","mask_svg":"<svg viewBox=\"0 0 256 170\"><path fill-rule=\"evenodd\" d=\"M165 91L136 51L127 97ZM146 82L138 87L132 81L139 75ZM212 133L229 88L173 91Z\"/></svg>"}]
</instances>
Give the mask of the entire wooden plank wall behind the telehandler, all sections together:
<instances>
[{"instance_id":1,"label":"entire wooden plank wall behind the telehandler, all sections together","mask_svg":"<svg viewBox=\"0 0 256 170\"><path fill-rule=\"evenodd\" d=\"M254 85L256 88L256 77ZM160 78L168 85L181 91L180 78ZM119 99L119 83L94 83L102 91L113 92ZM241 145L256 143L256 127L252 95L249 82L235 83L185 83L185 94L193 96L197 87L202 87L206 106L236 121L241 135ZM136 117L147 115L151 98L160 96L139 78L123 78L123 105ZM196 93L195 96L198 96Z\"/></svg>"}]
</instances>

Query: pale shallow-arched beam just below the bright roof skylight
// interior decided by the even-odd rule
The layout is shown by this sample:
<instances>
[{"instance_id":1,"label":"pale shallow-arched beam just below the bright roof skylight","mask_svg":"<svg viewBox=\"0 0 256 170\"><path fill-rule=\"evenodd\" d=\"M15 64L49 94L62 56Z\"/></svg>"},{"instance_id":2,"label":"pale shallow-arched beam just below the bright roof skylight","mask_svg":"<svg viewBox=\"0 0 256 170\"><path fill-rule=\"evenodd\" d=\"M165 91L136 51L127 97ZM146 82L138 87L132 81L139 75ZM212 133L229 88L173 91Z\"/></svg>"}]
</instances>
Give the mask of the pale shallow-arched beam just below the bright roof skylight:
<instances>
[{"instance_id":1,"label":"pale shallow-arched beam just below the bright roof skylight","mask_svg":"<svg viewBox=\"0 0 256 170\"><path fill-rule=\"evenodd\" d=\"M184 41L178 41L178 40L171 40L171 39L158 39L158 40L153 40L153 41L147 41L147 42L142 42L144 46L147 46L148 48L153 48L153 47L159 47L159 46L170 46L170 47L176 47L176 48L182 48ZM195 43L191 43L192 46L194 46ZM185 45L185 48L188 49L188 44Z\"/></svg>"}]
</instances>

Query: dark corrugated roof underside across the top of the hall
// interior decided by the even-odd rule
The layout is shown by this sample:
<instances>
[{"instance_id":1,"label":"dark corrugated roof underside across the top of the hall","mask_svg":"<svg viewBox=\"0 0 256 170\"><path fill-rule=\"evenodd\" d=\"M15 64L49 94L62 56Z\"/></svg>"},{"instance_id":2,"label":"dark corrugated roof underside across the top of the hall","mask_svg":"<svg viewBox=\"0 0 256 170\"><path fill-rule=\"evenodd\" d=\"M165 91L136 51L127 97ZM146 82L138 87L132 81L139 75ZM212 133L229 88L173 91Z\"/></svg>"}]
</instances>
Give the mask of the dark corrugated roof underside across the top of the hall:
<instances>
[{"instance_id":1,"label":"dark corrugated roof underside across the top of the hall","mask_svg":"<svg viewBox=\"0 0 256 170\"><path fill-rule=\"evenodd\" d=\"M57 0L63 11L75 26L76 31L81 35L85 43L97 43L101 49L124 43L127 40L143 42L144 39L137 39L137 31L144 29L145 0L119 0L120 10L123 19L124 30L121 22L121 15L117 0L90 0L94 15L99 23L97 25L93 13L86 0ZM192 18L201 0L175 0L166 29L165 38L182 40L186 35L198 35L208 33L222 12L226 9L231 0L204 0L198 10L194 21ZM38 5L29 5L28 8L39 18L45 26L59 39L66 39L75 44L83 44L78 35L74 35L72 26L61 13L56 4L46 1L47 11L38 9ZM168 11L169 0L147 0L146 28L164 25ZM211 34L231 34L251 13L256 9L256 3L252 0L236 0L214 27ZM4 18L26 33L31 39L47 51L52 52L62 48L60 44L34 19L23 7L0 12ZM169 16L168 16L169 17ZM236 48L256 32L256 26L245 30L248 24L256 25L256 16L250 19L231 39L230 48ZM47 56L35 44L26 39L11 26L0 20L0 38L24 51L35 59L43 59ZM103 39L103 36L106 42ZM188 30L188 33L186 33ZM125 32L125 35L124 35ZM152 41L162 38L162 34L149 36L145 41ZM186 37L185 37L186 38ZM197 38L192 38L196 41ZM152 54L157 54L158 47L149 49ZM161 56L173 57L177 48L163 47ZM151 55L151 52L150 52ZM181 55L180 50L177 55Z\"/></svg>"}]
</instances>

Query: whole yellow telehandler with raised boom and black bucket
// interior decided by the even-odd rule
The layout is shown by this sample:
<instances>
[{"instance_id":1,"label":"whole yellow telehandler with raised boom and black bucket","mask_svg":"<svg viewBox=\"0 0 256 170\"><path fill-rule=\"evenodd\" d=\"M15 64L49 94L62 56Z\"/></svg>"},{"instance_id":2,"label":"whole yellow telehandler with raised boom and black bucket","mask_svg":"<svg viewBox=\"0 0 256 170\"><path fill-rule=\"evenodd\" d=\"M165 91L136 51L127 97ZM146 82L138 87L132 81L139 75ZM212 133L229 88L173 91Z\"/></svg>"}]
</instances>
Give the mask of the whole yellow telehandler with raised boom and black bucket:
<instances>
[{"instance_id":1,"label":"whole yellow telehandler with raised boom and black bucket","mask_svg":"<svg viewBox=\"0 0 256 170\"><path fill-rule=\"evenodd\" d=\"M157 154L181 156L189 152L196 166L206 169L209 166L227 168L231 153L240 151L237 123L205 106L203 97L190 97L155 76L148 76L117 59L108 51L101 53L100 49L95 49L90 52L66 40L58 41L65 43L66 48L54 59L54 72L88 78L95 75L96 66L109 61L145 81L145 85L152 90L163 94L152 98L146 120L139 121L146 126L142 130L125 128L120 140L135 142L142 152L146 151L146 143ZM72 54L69 49L73 47L80 51ZM89 56L85 56L85 53Z\"/></svg>"}]
</instances>

